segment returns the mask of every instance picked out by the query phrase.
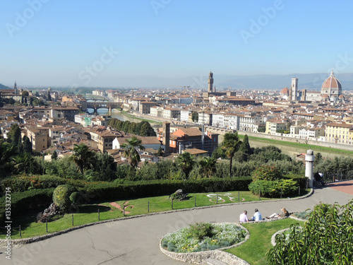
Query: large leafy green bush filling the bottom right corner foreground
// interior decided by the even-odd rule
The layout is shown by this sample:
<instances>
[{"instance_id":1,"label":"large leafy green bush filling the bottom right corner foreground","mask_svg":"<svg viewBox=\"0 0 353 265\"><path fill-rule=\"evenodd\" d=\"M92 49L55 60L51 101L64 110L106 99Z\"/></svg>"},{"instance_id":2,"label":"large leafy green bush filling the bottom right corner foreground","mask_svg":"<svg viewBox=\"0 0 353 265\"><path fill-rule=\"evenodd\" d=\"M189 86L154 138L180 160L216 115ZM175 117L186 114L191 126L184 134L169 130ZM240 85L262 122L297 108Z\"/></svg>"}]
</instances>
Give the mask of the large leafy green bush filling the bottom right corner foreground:
<instances>
[{"instance_id":1,"label":"large leafy green bush filling the bottom right corner foreground","mask_svg":"<svg viewBox=\"0 0 353 265\"><path fill-rule=\"evenodd\" d=\"M269 264L348 265L353 260L353 200L345 206L318 204L302 228L276 236Z\"/></svg>"}]
</instances>

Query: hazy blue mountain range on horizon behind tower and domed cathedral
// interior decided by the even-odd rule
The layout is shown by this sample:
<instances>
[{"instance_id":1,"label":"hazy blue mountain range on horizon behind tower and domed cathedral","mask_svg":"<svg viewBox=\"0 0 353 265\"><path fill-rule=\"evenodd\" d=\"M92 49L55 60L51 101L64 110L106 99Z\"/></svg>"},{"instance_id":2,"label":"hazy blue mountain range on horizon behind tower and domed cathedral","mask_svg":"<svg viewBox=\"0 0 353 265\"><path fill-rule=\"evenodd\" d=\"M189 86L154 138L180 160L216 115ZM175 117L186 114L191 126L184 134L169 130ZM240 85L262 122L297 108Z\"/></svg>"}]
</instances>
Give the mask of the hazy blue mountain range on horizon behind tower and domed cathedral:
<instances>
[{"instance_id":1,"label":"hazy blue mountain range on horizon behind tower and domed cathedral","mask_svg":"<svg viewBox=\"0 0 353 265\"><path fill-rule=\"evenodd\" d=\"M323 81L330 73L296 73L285 76L280 75L256 75L256 76L229 76L213 73L217 90L232 89L266 89L279 90L289 88L292 78L298 78L299 89L320 90ZM343 90L353 89L353 73L341 73L335 75L342 84ZM208 88L208 73L203 76L189 76L186 78L163 78L157 76L124 76L116 78L116 86L119 87L182 87Z\"/></svg>"}]
</instances>

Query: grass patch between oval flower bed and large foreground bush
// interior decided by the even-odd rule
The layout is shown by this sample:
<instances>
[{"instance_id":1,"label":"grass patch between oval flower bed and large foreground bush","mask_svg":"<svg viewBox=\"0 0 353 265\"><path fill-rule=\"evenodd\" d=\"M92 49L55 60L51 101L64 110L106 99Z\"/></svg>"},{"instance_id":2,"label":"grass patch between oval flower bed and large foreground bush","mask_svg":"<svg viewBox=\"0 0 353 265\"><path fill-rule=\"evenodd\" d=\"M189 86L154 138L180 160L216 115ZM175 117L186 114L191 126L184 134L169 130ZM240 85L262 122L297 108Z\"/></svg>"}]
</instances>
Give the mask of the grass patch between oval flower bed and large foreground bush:
<instances>
[{"instance_id":1,"label":"grass patch between oval flower bed and large foreground bush","mask_svg":"<svg viewBox=\"0 0 353 265\"><path fill-rule=\"evenodd\" d=\"M271 237L279 230L289 228L290 225L296 223L304 223L292 218L275 220L273 222L264 223L246 223L244 227L249 230L250 237L244 244L239 247L227 249L227 252L248 261L251 265L265 265L266 253L271 245Z\"/></svg>"}]
</instances>

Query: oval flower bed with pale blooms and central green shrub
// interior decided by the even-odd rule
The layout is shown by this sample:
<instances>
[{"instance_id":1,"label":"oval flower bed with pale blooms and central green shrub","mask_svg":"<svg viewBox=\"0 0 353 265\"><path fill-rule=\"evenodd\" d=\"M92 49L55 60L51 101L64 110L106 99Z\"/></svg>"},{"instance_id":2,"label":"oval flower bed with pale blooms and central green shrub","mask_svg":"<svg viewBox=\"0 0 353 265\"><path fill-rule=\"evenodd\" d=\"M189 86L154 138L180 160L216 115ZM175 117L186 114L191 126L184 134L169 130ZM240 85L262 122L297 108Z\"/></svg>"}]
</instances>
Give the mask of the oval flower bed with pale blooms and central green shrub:
<instances>
[{"instance_id":1,"label":"oval flower bed with pale blooms and central green shrub","mask_svg":"<svg viewBox=\"0 0 353 265\"><path fill-rule=\"evenodd\" d=\"M196 223L162 239L169 252L187 253L219 249L244 241L246 230L235 223Z\"/></svg>"}]
</instances>

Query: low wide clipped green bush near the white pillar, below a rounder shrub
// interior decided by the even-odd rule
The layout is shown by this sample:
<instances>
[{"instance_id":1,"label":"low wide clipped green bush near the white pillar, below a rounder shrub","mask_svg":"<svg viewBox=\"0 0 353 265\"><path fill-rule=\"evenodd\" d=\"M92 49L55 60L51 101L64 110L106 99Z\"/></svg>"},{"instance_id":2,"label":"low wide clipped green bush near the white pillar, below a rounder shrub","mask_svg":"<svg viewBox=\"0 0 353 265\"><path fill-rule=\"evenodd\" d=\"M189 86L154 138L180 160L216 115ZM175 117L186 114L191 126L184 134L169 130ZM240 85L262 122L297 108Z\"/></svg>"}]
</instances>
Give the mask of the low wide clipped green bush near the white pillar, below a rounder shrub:
<instances>
[{"instance_id":1,"label":"low wide clipped green bush near the white pillar, below a rounder shrub","mask_svg":"<svg viewBox=\"0 0 353 265\"><path fill-rule=\"evenodd\" d=\"M264 197L280 197L281 193L282 196L289 196L297 192L298 185L292 179L279 179L273 181L267 180L256 180L249 184L249 190L253 194L259 194L261 192L261 196Z\"/></svg>"}]
</instances>

